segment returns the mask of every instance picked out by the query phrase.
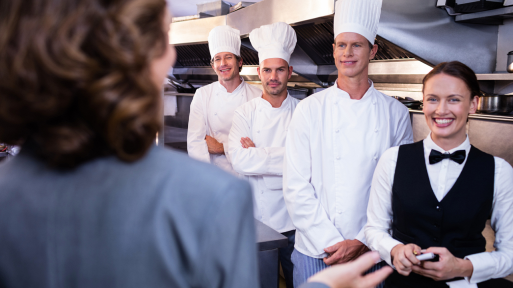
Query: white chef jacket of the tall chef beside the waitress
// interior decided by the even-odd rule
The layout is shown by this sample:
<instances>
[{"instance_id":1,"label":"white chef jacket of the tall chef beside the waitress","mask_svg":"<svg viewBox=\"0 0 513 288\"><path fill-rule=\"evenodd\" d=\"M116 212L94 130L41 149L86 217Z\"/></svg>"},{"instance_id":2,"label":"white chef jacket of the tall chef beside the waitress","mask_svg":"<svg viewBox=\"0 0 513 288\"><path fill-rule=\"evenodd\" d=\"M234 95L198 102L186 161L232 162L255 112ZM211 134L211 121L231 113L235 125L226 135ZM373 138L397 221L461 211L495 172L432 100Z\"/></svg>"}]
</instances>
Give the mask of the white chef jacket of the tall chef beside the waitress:
<instances>
[{"instance_id":1,"label":"white chef jacket of the tall chef beside the waitress","mask_svg":"<svg viewBox=\"0 0 513 288\"><path fill-rule=\"evenodd\" d=\"M370 88L360 100L334 85L302 100L288 129L283 194L302 254L323 258L345 239L365 243L370 182L381 154L413 142L408 109Z\"/></svg>"}]
</instances>

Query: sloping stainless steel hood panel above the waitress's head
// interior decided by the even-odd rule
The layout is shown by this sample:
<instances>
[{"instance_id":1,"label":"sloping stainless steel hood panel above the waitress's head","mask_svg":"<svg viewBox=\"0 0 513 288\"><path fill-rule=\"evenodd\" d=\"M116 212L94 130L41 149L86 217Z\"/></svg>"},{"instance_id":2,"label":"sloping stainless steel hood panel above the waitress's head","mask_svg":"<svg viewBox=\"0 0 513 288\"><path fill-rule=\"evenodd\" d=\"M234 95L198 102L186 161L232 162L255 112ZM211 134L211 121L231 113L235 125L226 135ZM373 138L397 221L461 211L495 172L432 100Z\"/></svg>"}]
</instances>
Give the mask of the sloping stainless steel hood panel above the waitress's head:
<instances>
[{"instance_id":1,"label":"sloping stainless steel hood panel above the waitress's head","mask_svg":"<svg viewBox=\"0 0 513 288\"><path fill-rule=\"evenodd\" d=\"M476 73L495 70L498 27L456 23L437 0L383 0L378 35L432 65L458 60Z\"/></svg>"}]
</instances>

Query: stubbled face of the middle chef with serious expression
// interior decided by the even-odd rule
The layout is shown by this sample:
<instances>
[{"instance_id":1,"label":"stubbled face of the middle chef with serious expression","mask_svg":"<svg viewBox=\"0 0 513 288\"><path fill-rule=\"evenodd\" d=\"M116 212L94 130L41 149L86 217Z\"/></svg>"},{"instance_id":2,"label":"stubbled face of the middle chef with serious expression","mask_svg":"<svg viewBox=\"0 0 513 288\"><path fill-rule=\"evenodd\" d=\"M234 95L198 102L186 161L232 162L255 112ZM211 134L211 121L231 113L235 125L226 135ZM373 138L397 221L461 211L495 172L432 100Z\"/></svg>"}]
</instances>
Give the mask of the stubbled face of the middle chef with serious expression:
<instances>
[{"instance_id":1,"label":"stubbled face of the middle chef with serious expression","mask_svg":"<svg viewBox=\"0 0 513 288\"><path fill-rule=\"evenodd\" d=\"M287 89L288 79L292 76L292 66L282 58L269 58L257 68L262 87L269 95L278 95Z\"/></svg>"}]
</instances>

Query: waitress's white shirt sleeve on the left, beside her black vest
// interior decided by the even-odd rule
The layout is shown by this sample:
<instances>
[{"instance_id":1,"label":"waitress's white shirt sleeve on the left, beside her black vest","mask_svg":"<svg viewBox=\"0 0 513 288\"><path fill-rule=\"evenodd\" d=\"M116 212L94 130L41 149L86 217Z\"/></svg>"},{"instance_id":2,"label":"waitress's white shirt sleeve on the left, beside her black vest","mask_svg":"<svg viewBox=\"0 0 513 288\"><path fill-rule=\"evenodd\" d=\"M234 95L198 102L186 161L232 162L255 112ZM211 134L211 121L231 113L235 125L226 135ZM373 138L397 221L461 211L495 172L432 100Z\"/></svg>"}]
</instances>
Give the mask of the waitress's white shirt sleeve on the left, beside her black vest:
<instances>
[{"instance_id":1,"label":"waitress's white shirt sleeve on the left, beside her black vest","mask_svg":"<svg viewBox=\"0 0 513 288\"><path fill-rule=\"evenodd\" d=\"M369 249L378 251L381 259L392 267L390 252L396 245L402 244L390 235L393 219L392 185L398 154L399 147L388 149L374 170L367 206L367 224L364 227Z\"/></svg>"}]
</instances>

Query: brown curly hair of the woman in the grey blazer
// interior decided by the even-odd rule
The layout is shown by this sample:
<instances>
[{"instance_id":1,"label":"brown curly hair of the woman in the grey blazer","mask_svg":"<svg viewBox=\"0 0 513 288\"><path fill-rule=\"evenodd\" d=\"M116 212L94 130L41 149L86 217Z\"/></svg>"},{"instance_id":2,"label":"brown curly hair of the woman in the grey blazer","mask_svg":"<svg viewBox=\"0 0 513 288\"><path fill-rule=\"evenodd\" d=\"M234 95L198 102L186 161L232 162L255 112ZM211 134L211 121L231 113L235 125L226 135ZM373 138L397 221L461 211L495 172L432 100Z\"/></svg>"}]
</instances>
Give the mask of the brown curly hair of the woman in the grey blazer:
<instances>
[{"instance_id":1,"label":"brown curly hair of the woman in the grey blazer","mask_svg":"<svg viewBox=\"0 0 513 288\"><path fill-rule=\"evenodd\" d=\"M145 155L161 128L149 64L165 0L0 1L0 142L57 168Z\"/></svg>"}]
</instances>

